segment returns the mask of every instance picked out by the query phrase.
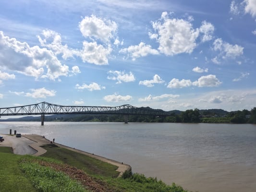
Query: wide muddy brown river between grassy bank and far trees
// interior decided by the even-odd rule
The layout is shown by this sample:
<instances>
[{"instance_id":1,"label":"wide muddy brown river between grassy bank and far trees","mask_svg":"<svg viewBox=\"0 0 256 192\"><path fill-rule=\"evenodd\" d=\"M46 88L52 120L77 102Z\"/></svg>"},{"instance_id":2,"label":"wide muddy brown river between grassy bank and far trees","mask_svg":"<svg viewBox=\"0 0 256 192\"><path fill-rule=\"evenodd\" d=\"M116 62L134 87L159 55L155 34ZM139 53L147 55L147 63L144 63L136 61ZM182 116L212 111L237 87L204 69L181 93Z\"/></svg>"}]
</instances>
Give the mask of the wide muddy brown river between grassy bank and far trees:
<instances>
[{"instance_id":1,"label":"wide muddy brown river between grassy bank and far trees","mask_svg":"<svg viewBox=\"0 0 256 192\"><path fill-rule=\"evenodd\" d=\"M0 122L0 133L10 129L55 138L189 191L256 192L256 125Z\"/></svg>"}]
</instances>

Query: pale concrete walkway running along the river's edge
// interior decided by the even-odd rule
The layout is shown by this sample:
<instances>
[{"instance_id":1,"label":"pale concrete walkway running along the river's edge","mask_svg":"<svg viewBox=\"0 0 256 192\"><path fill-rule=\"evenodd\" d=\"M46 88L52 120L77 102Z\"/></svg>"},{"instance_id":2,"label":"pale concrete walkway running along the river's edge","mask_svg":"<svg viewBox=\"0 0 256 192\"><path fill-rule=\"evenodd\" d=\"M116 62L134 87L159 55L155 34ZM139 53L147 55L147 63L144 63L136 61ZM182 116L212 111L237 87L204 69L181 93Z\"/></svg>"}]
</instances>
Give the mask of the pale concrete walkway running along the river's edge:
<instances>
[{"instance_id":1,"label":"pale concrete walkway running along the river's edge","mask_svg":"<svg viewBox=\"0 0 256 192\"><path fill-rule=\"evenodd\" d=\"M36 135L36 134L26 134L26 135L22 135L23 137L26 137L36 143L33 143L33 144L30 144L30 146L32 148L34 148L35 150L37 150L37 153L34 154L34 156L40 156L44 153L47 152L47 150L43 149L42 145L44 144L50 144L50 141L40 135ZM106 162L106 163L109 163L109 164L112 164L112 165L115 165L118 167L118 169L116 171L120 172L119 176L118 177L121 177L122 174L127 170L127 171L131 171L132 168L131 166L129 165L126 165L126 164L123 164L121 162L118 162L118 161L114 161L114 160L111 160L111 159L108 159L108 158L105 158L105 157L102 157L102 156L97 156L97 155L94 155L94 154L91 154L91 153L87 153L85 151L81 151L79 149L75 149L75 148L72 148L72 147L69 147L69 146L65 146L65 145L62 145L62 144L57 144L57 143L54 143L56 145L58 145L59 147L63 147L63 148L66 148L66 149L69 149L71 151L74 151L74 152L77 152L77 153L80 153L80 154L84 154L86 156L90 156L92 158L96 158L98 160L101 160L103 162Z\"/></svg>"}]
</instances>

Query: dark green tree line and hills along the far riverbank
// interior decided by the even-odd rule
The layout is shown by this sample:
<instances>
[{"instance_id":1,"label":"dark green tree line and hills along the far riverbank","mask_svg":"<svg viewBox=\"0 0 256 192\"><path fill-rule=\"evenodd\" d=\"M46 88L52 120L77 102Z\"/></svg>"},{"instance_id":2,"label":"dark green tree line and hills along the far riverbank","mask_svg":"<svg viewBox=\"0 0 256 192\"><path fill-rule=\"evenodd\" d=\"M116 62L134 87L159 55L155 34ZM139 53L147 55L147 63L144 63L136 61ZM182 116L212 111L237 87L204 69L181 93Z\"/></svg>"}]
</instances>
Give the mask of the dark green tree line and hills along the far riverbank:
<instances>
[{"instance_id":1,"label":"dark green tree line and hills along the far riverbank","mask_svg":"<svg viewBox=\"0 0 256 192\"><path fill-rule=\"evenodd\" d=\"M46 121L100 121L124 122L123 115L66 115L48 116ZM129 115L129 122L176 122L176 123L256 123L256 108L227 112L225 115L214 110L188 109L170 116Z\"/></svg>"}]
</instances>

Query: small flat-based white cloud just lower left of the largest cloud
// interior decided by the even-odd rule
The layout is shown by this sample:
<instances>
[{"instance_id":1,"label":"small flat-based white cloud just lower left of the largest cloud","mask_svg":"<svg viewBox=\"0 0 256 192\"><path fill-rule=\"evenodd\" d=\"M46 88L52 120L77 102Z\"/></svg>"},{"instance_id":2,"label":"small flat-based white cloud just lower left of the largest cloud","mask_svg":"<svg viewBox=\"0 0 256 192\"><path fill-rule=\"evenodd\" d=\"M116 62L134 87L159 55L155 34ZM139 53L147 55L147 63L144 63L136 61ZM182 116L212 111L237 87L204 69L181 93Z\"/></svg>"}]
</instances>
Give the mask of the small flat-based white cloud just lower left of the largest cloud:
<instances>
[{"instance_id":1,"label":"small flat-based white cloud just lower left of the largest cloud","mask_svg":"<svg viewBox=\"0 0 256 192\"><path fill-rule=\"evenodd\" d=\"M140 57L145 57L148 54L158 55L159 52L156 49L151 48L150 45L146 45L143 42L140 42L139 45L130 46L128 48L122 48L120 53L127 53L128 57L131 57L133 60L136 60Z\"/></svg>"}]
</instances>

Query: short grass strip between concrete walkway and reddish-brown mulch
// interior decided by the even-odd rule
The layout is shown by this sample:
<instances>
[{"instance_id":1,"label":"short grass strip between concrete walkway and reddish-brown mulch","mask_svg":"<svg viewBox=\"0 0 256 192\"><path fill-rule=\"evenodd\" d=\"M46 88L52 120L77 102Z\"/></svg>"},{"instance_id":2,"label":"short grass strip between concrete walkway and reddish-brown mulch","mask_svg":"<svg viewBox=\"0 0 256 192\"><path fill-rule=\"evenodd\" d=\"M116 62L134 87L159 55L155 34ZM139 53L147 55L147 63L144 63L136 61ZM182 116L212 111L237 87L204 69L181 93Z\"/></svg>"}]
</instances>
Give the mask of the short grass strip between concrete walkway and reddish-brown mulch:
<instances>
[{"instance_id":1,"label":"short grass strip between concrete walkway and reddish-brown mulch","mask_svg":"<svg viewBox=\"0 0 256 192\"><path fill-rule=\"evenodd\" d=\"M47 152L42 156L58 159L68 165L82 169L90 175L100 175L105 177L117 177L119 175L119 172L116 171L118 168L117 166L102 162L84 154L57 147L55 144L44 145L43 148L45 148Z\"/></svg>"}]
</instances>

